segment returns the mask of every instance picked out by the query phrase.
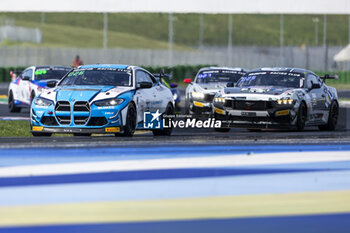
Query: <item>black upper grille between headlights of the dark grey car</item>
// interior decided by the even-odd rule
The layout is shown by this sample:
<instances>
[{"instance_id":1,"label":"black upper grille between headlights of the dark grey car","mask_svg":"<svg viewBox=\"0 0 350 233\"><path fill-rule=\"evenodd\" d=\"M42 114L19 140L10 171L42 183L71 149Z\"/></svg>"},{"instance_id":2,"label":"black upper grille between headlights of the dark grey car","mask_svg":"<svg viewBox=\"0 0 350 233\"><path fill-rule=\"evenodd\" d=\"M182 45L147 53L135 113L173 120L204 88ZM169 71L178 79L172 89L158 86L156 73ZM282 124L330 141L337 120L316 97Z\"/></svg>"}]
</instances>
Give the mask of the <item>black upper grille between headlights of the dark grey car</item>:
<instances>
[{"instance_id":1,"label":"black upper grille between headlights of the dark grey car","mask_svg":"<svg viewBox=\"0 0 350 233\"><path fill-rule=\"evenodd\" d=\"M272 108L270 101L226 100L225 107L237 110L267 110Z\"/></svg>"}]
</instances>

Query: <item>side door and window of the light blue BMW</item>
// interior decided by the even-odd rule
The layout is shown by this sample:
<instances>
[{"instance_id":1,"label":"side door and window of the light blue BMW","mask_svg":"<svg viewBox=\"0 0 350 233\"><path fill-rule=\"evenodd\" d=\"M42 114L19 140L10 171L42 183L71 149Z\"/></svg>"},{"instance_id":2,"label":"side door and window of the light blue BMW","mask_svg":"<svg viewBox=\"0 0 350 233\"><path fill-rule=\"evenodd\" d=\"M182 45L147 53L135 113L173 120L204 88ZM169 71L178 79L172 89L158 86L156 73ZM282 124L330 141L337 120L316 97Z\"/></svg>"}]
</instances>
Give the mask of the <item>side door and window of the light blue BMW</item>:
<instances>
[{"instance_id":1,"label":"side door and window of the light blue BMW","mask_svg":"<svg viewBox=\"0 0 350 233\"><path fill-rule=\"evenodd\" d=\"M150 76L143 70L135 71L136 92L135 101L137 105L137 122L143 121L144 112L152 112L152 102L154 100L154 85L152 88L140 88L140 82L153 83Z\"/></svg>"}]
</instances>

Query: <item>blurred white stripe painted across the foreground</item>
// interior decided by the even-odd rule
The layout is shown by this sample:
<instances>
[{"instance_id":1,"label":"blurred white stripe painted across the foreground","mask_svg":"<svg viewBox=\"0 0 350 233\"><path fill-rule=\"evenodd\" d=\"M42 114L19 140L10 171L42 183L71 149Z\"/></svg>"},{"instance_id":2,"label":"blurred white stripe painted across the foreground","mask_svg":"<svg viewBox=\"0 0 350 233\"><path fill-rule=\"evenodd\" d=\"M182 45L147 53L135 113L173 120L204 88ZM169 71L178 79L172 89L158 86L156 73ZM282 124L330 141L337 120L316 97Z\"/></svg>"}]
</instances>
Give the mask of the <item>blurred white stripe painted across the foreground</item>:
<instances>
[{"instance_id":1,"label":"blurred white stripe painted across the foreground","mask_svg":"<svg viewBox=\"0 0 350 233\"><path fill-rule=\"evenodd\" d=\"M239 167L312 162L350 161L349 151L288 152L195 158L149 159L133 161L42 164L0 168L0 177L86 174L155 169Z\"/></svg>"}]
</instances>

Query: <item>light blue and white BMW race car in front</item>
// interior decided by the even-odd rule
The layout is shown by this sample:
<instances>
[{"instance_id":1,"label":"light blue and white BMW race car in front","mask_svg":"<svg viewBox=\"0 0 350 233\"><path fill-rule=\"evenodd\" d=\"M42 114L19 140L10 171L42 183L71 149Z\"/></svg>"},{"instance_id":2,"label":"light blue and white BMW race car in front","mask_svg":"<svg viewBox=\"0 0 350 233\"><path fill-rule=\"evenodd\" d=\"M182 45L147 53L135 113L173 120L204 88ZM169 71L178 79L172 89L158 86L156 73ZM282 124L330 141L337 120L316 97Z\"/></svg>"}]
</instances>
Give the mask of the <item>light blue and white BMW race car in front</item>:
<instances>
[{"instance_id":1,"label":"light blue and white BMW race car in front","mask_svg":"<svg viewBox=\"0 0 350 233\"><path fill-rule=\"evenodd\" d=\"M132 136L144 129L145 114L174 113L169 88L151 73L128 65L85 65L69 72L53 88L37 96L31 109L34 136L52 133L92 133ZM148 126L147 126L148 128ZM152 128L155 135L170 135L171 128Z\"/></svg>"}]
</instances>

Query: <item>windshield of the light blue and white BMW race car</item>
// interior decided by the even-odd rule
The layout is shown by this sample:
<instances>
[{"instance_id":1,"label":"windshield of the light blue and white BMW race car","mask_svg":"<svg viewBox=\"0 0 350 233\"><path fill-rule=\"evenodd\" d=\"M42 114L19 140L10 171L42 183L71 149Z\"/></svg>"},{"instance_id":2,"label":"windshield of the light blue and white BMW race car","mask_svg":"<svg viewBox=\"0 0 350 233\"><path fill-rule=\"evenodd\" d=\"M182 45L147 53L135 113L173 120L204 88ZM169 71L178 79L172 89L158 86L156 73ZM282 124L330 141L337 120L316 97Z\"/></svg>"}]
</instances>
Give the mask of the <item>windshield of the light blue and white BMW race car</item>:
<instances>
[{"instance_id":1,"label":"windshield of the light blue and white BMW race car","mask_svg":"<svg viewBox=\"0 0 350 233\"><path fill-rule=\"evenodd\" d=\"M131 86L130 72L122 69L77 69L70 72L59 85Z\"/></svg>"}]
</instances>

